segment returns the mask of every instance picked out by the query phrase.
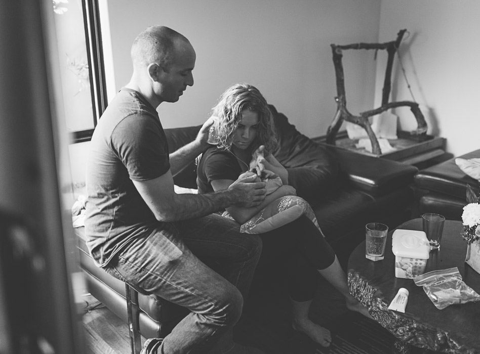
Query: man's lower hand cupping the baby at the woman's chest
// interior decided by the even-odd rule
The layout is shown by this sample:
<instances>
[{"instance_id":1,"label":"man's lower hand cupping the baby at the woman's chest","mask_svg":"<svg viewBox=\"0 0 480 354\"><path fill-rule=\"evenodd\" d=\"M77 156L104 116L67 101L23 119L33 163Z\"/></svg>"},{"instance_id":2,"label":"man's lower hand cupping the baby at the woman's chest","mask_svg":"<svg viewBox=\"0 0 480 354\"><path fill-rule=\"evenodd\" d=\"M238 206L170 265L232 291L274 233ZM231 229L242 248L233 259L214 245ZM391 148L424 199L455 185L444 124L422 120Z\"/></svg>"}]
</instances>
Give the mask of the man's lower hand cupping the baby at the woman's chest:
<instances>
[{"instance_id":1,"label":"man's lower hand cupping the baby at the woman's chest","mask_svg":"<svg viewBox=\"0 0 480 354\"><path fill-rule=\"evenodd\" d=\"M256 182L258 180L259 177L256 173L250 176L243 173L228 187L228 190L237 197L234 205L248 208L259 205L265 199L265 182Z\"/></svg>"}]
</instances>

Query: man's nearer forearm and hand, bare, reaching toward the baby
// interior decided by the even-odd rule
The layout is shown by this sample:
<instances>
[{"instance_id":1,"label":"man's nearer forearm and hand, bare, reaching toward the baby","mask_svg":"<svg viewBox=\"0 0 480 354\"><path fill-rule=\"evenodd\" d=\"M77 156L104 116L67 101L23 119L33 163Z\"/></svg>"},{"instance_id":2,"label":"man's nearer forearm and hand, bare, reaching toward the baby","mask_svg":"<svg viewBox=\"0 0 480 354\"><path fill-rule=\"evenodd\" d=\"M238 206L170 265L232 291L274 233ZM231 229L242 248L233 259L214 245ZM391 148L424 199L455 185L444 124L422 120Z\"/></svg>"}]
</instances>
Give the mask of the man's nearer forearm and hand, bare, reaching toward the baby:
<instances>
[{"instance_id":1,"label":"man's nearer forearm and hand, bare, reaching toward the baby","mask_svg":"<svg viewBox=\"0 0 480 354\"><path fill-rule=\"evenodd\" d=\"M231 205L255 206L265 199L265 183L256 175L235 181L228 189L211 194L176 194L170 170L149 181L133 181L159 221L174 222L223 210Z\"/></svg>"}]
</instances>

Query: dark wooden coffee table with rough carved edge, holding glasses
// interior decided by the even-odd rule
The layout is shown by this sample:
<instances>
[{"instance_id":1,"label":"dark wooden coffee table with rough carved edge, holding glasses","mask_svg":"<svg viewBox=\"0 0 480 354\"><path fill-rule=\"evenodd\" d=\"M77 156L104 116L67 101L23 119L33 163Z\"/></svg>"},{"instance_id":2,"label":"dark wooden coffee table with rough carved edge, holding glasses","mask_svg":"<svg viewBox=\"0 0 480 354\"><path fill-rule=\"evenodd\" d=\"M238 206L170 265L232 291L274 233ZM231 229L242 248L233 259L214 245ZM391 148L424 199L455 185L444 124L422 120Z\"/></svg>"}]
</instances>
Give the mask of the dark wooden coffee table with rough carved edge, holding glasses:
<instances>
[{"instance_id":1,"label":"dark wooden coffee table with rough carved edge, holding glasses","mask_svg":"<svg viewBox=\"0 0 480 354\"><path fill-rule=\"evenodd\" d=\"M397 229L422 230L422 220L410 220ZM446 220L440 249L430 252L425 272L457 267L463 281L480 294L480 274L465 263L467 243L461 230L461 222ZM348 285L370 315L397 338L393 352L408 353L414 345L446 353L480 353L480 301L440 310L412 279L395 278L392 233L383 260L365 258L365 241L353 250ZM387 308L399 288L410 292L405 314Z\"/></svg>"}]
</instances>

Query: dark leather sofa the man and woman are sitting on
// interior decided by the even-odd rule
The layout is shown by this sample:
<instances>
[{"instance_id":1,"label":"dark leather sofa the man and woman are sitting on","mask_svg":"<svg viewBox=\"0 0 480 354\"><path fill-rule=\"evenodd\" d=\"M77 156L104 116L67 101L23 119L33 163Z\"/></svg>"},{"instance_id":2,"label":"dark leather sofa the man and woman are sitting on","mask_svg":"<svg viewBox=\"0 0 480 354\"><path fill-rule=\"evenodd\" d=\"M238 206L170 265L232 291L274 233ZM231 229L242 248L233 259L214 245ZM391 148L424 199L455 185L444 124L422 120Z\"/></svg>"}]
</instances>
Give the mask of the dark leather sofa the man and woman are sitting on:
<instances>
[{"instance_id":1,"label":"dark leather sofa the man and woman are sitting on","mask_svg":"<svg viewBox=\"0 0 480 354\"><path fill-rule=\"evenodd\" d=\"M411 218L416 167L317 144L274 106L270 109L279 140L273 153L287 168L298 196L311 204L343 267L353 248L364 240L366 223L381 222L393 229ZM191 142L200 127L166 129L170 151ZM184 188L196 188L195 181L194 162L174 176L175 184ZM95 266L85 246L83 228L75 230L90 293L127 322L125 284ZM146 338L166 335L187 313L162 298L137 291L132 292L132 303L132 325Z\"/></svg>"}]
</instances>

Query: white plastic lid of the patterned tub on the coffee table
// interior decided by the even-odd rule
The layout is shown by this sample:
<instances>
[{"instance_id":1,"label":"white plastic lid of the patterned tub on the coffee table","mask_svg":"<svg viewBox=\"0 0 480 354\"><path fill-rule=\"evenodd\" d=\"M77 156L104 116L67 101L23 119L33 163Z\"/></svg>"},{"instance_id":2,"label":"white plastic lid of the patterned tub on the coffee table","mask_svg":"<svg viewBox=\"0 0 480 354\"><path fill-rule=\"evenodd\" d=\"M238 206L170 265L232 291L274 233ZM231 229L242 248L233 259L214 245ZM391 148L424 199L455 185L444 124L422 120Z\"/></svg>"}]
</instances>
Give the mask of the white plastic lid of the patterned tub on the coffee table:
<instances>
[{"instance_id":1,"label":"white plastic lid of the patterned tub on the coffee table","mask_svg":"<svg viewBox=\"0 0 480 354\"><path fill-rule=\"evenodd\" d=\"M392 235L392 251L398 257L428 259L430 243L423 231L398 229Z\"/></svg>"}]
</instances>

